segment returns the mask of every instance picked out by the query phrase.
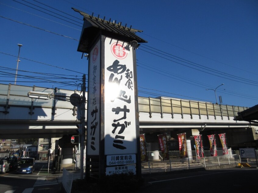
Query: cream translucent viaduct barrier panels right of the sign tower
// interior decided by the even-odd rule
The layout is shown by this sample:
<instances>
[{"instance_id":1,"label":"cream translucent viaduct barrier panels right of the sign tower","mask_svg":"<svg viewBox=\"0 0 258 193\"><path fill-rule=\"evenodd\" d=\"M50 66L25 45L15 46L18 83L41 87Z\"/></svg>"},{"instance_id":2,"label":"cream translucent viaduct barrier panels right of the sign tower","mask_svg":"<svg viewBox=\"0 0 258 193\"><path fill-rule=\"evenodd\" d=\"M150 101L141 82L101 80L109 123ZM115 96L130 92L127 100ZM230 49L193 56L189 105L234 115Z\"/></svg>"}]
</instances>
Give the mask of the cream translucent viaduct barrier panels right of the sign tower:
<instances>
[{"instance_id":1,"label":"cream translucent viaduct barrier panels right of the sign tower","mask_svg":"<svg viewBox=\"0 0 258 193\"><path fill-rule=\"evenodd\" d=\"M213 104L207 102L193 101L193 100L182 100L177 98L166 98L166 97L138 97L139 103L139 112L149 113L152 117L152 113L160 113L163 117L163 113L171 114L171 117L174 118L174 114L181 114L181 118L184 118L184 114L188 114L193 118L194 115L199 116L199 119L202 116L206 116L209 119L209 116L227 117L228 120L230 117L237 116L238 112L248 109L248 107L239 107L223 104Z\"/></svg>"}]
</instances>

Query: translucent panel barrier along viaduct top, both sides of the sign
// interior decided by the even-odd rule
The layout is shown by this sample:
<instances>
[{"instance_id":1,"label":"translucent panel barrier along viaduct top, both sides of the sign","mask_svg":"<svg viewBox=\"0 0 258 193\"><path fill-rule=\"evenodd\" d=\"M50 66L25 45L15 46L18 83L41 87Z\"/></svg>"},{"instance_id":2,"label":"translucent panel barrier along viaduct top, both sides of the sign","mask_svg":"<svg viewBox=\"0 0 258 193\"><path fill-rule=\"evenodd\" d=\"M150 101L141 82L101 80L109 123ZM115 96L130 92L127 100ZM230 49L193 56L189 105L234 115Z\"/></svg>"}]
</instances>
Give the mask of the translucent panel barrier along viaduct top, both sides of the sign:
<instances>
[{"instance_id":1,"label":"translucent panel barrier along viaduct top, both sides of the sign","mask_svg":"<svg viewBox=\"0 0 258 193\"><path fill-rule=\"evenodd\" d=\"M66 89L50 89L37 86L20 86L12 84L0 84L0 106L4 107L4 111L1 112L8 113L8 108L10 106L29 106L33 107L44 107L52 108L55 105L55 108L67 108L73 109L73 105L67 101L56 101L53 103L52 100L41 100L41 99L31 99L27 96L29 91L38 91L45 93L66 93L67 101L70 101L70 95L73 93L80 92L78 90L66 90ZM223 119L225 117L228 120L231 117L237 116L238 112L248 109L248 107L239 107L223 104L213 104L201 101L194 100L183 100L178 98L167 98L167 97L138 97L138 107L139 112L149 113L150 118L152 113L160 113L161 118L163 114L171 114L171 117L174 118L175 114L181 115L181 118L184 118L185 114L199 117L201 119L203 116L206 119L209 119L210 116Z\"/></svg>"}]
</instances>

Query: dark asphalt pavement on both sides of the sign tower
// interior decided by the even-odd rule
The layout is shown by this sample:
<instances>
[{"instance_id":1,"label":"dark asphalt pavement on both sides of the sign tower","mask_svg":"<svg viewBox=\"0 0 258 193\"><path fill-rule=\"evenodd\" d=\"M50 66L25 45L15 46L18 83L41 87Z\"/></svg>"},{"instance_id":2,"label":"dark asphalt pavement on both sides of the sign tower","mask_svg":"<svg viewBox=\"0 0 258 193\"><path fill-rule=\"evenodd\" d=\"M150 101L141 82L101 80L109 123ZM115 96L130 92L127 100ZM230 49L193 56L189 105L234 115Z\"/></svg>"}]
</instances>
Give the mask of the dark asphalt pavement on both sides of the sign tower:
<instances>
[{"instance_id":1,"label":"dark asphalt pavement on both sides of the sign tower","mask_svg":"<svg viewBox=\"0 0 258 193\"><path fill-rule=\"evenodd\" d=\"M153 170L152 170L153 171ZM79 173L78 173L79 174ZM62 175L62 174L60 174ZM60 181L47 180L56 174L48 174L46 162L37 162L33 174L16 174L15 171L0 174L0 193L61 192ZM59 176L60 177L60 176ZM137 193L181 192L254 192L257 190L258 169L231 167L206 170L174 170L142 174L145 183ZM124 192L119 190L117 192Z\"/></svg>"}]
</instances>

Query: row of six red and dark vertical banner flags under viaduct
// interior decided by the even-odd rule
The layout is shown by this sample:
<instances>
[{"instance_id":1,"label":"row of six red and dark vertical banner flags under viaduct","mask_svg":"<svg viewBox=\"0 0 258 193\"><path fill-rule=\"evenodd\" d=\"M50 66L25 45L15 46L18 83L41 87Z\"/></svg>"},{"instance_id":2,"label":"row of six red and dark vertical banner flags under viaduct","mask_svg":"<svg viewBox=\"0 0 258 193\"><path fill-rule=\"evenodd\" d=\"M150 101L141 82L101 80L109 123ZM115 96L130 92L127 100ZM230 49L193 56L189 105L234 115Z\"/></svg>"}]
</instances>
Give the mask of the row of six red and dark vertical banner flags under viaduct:
<instances>
[{"instance_id":1,"label":"row of six red and dark vertical banner flags under viaduct","mask_svg":"<svg viewBox=\"0 0 258 193\"><path fill-rule=\"evenodd\" d=\"M228 154L228 147L226 142L226 133L218 134L219 139L222 145L223 155ZM187 146L186 146L186 133L177 134L178 142L179 142L179 152L180 158L187 158ZM195 141L195 148L196 148L196 155L197 158L203 158L203 145L202 145L202 135L194 135ZM217 145L215 134L207 135L209 142L210 142L210 155L211 156L218 156L217 154ZM163 160L169 160L169 153L168 153L168 142L167 142L167 134L160 134L158 135L159 139L159 146L161 149L161 157ZM146 150L146 141L145 135L140 134L140 149L141 149L141 162L148 161L147 150Z\"/></svg>"}]
</instances>

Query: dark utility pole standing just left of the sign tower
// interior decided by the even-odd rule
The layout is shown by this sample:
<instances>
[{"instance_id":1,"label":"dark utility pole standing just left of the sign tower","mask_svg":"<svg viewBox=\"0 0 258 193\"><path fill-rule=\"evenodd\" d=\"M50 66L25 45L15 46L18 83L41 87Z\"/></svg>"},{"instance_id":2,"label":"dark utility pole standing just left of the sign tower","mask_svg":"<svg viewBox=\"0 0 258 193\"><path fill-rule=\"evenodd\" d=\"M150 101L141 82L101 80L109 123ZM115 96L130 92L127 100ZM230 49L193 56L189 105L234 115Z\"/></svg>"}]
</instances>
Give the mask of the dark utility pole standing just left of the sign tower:
<instances>
[{"instance_id":1,"label":"dark utility pole standing just left of the sign tower","mask_svg":"<svg viewBox=\"0 0 258 193\"><path fill-rule=\"evenodd\" d=\"M86 98L85 98L85 92L86 92L86 75L84 74L82 77L82 101L80 105L80 111L81 111L81 128L80 128L80 142L81 142L81 180L83 179L83 161L84 161L84 139L85 139L85 103L86 103Z\"/></svg>"}]
</instances>

